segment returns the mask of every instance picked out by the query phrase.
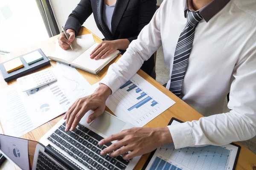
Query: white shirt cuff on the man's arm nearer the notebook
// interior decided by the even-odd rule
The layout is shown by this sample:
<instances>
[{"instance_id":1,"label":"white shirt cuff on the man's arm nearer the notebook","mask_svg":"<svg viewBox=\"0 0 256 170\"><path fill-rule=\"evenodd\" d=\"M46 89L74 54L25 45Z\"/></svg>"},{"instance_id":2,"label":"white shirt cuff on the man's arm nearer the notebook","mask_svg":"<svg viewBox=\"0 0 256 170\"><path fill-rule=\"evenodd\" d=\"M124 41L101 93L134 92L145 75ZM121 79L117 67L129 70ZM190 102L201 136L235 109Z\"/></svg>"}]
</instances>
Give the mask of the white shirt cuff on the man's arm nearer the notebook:
<instances>
[{"instance_id":1,"label":"white shirt cuff on the man's arm nearer the notebook","mask_svg":"<svg viewBox=\"0 0 256 170\"><path fill-rule=\"evenodd\" d=\"M112 94L115 93L121 86L121 82L119 81L118 77L113 74L107 74L99 83L107 85L111 89Z\"/></svg>"}]
</instances>

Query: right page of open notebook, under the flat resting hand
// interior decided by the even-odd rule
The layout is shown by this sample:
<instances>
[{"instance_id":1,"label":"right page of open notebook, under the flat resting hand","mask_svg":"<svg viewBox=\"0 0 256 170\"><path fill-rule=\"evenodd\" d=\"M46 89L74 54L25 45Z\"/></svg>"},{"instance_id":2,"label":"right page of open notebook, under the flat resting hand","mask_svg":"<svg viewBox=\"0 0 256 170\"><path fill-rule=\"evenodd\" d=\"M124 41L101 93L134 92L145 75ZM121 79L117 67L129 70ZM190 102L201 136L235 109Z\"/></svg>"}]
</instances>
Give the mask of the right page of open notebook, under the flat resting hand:
<instances>
[{"instance_id":1,"label":"right page of open notebook, under the flat resting hand","mask_svg":"<svg viewBox=\"0 0 256 170\"><path fill-rule=\"evenodd\" d=\"M88 71L96 71L98 68L100 68L102 65L104 65L106 62L108 62L110 59L112 59L113 56L116 56L116 52L109 55L108 57L104 59L91 59L90 53L96 48L98 43L95 43L93 46L91 46L87 51L85 51L83 54L81 54L79 57L77 57L71 64L80 66L81 68L84 68Z\"/></svg>"}]
</instances>

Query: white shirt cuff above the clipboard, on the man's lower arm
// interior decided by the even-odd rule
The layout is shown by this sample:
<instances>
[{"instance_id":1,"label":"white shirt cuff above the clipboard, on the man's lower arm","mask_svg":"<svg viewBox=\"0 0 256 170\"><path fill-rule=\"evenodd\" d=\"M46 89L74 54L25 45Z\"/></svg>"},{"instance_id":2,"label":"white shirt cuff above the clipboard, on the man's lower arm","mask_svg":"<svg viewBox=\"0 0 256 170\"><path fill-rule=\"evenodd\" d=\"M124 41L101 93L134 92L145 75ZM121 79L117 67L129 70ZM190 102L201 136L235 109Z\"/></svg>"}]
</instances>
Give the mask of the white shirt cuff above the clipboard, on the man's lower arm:
<instances>
[{"instance_id":1,"label":"white shirt cuff above the clipboard, on the man's lower arm","mask_svg":"<svg viewBox=\"0 0 256 170\"><path fill-rule=\"evenodd\" d=\"M188 125L185 123L180 123L179 125L167 126L172 135L172 140L175 149L183 147L194 147L192 133L189 130Z\"/></svg>"}]
</instances>

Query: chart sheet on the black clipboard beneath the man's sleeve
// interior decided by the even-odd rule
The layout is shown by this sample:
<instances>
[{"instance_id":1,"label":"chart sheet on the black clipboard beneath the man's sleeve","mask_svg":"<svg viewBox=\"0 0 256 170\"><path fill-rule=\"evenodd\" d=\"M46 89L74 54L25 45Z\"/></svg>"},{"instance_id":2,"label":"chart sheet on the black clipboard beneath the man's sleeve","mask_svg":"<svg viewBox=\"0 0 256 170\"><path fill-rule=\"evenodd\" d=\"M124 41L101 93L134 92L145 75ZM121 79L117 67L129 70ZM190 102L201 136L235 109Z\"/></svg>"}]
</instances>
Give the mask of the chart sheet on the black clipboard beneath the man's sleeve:
<instances>
[{"instance_id":1,"label":"chart sheet on the black clipboard beneath the man's sleeve","mask_svg":"<svg viewBox=\"0 0 256 170\"><path fill-rule=\"evenodd\" d=\"M178 123L174 120L172 125ZM174 144L165 144L157 148L146 170L233 170L237 151L232 144L177 150Z\"/></svg>"}]
</instances>

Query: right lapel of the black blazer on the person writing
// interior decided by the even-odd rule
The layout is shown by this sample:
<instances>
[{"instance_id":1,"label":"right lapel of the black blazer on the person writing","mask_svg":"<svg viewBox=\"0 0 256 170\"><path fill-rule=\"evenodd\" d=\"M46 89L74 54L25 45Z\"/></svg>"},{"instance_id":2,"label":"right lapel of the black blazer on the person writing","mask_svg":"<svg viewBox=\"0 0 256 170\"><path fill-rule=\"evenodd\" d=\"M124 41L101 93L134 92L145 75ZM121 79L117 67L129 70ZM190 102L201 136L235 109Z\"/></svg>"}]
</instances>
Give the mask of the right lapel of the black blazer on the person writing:
<instances>
[{"instance_id":1,"label":"right lapel of the black blazer on the person writing","mask_svg":"<svg viewBox=\"0 0 256 170\"><path fill-rule=\"evenodd\" d=\"M116 6L112 15L111 27L113 35L116 32L116 28L125 12L129 0L116 0Z\"/></svg>"}]
</instances>

